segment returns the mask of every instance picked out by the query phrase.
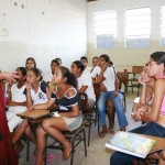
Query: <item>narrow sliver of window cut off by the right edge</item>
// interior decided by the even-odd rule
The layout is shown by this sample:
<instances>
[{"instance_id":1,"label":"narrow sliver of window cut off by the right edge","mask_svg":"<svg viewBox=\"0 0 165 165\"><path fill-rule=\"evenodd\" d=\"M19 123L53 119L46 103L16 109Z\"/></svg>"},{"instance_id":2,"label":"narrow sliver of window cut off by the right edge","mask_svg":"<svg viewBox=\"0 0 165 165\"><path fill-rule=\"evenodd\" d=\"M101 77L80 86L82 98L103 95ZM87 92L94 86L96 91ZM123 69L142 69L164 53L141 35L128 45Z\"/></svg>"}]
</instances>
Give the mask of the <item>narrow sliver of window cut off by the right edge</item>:
<instances>
[{"instance_id":1,"label":"narrow sliver of window cut off by the right edge","mask_svg":"<svg viewBox=\"0 0 165 165\"><path fill-rule=\"evenodd\" d=\"M161 45L165 46L165 6L161 10Z\"/></svg>"}]
</instances>

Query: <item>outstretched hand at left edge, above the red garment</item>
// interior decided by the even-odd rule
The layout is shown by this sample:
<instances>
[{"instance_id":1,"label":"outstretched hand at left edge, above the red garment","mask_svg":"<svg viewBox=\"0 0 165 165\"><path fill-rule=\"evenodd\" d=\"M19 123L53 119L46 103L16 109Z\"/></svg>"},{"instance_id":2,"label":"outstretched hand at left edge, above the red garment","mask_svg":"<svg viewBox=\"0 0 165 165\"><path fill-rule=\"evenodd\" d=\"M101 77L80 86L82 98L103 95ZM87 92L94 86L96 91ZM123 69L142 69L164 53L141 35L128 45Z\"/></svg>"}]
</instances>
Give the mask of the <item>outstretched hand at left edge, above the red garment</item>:
<instances>
[{"instance_id":1,"label":"outstretched hand at left edge, above the red garment","mask_svg":"<svg viewBox=\"0 0 165 165\"><path fill-rule=\"evenodd\" d=\"M3 72L0 74L1 74L1 79L6 79L10 85L16 81L15 78L19 78L16 72L13 73Z\"/></svg>"}]
</instances>

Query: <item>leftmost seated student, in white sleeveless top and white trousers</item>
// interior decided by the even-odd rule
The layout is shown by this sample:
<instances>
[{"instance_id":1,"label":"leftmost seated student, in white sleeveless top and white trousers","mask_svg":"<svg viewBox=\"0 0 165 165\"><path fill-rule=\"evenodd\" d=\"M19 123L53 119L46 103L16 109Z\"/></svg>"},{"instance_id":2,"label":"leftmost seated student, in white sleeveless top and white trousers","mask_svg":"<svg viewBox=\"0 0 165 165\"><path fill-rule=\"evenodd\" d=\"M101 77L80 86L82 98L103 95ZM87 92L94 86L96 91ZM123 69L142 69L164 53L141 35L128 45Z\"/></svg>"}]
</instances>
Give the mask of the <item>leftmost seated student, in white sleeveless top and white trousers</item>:
<instances>
[{"instance_id":1,"label":"leftmost seated student, in white sleeveless top and white trousers","mask_svg":"<svg viewBox=\"0 0 165 165\"><path fill-rule=\"evenodd\" d=\"M20 124L23 120L16 116L19 112L24 112L26 110L26 97L24 94L25 90L25 78L26 78L26 69L25 67L16 68L16 82L11 86L11 89L8 89L8 102L9 106L7 114L8 125L10 132L13 133L13 130L18 124Z\"/></svg>"}]
</instances>

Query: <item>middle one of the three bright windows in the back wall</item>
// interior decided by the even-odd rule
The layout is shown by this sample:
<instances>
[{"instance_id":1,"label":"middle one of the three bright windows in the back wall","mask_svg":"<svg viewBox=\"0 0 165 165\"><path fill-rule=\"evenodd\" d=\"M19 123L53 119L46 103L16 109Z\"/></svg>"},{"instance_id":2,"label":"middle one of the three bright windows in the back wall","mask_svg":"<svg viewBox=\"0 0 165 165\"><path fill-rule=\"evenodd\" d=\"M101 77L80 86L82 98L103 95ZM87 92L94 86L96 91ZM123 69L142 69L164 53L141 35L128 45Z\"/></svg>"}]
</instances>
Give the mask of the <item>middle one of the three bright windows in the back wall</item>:
<instances>
[{"instance_id":1,"label":"middle one of the three bright windows in the back wall","mask_svg":"<svg viewBox=\"0 0 165 165\"><path fill-rule=\"evenodd\" d=\"M125 47L147 47L151 41L151 9L125 10Z\"/></svg>"}]
</instances>

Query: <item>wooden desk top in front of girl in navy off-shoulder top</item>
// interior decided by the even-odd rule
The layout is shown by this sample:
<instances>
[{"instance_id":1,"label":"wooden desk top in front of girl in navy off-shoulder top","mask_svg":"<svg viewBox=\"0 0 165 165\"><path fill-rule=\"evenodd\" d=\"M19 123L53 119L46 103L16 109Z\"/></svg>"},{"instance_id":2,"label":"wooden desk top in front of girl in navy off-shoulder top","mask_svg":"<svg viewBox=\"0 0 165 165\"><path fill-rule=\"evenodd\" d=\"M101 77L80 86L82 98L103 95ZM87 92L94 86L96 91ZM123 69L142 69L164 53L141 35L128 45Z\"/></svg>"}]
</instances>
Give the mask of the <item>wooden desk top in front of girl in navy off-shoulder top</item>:
<instances>
[{"instance_id":1,"label":"wooden desk top in front of girl in navy off-shoulder top","mask_svg":"<svg viewBox=\"0 0 165 165\"><path fill-rule=\"evenodd\" d=\"M25 111L18 113L16 116L23 118L23 119L32 119L32 120L37 120L44 117L50 116L50 110L46 109L36 109L36 110L31 110L31 111Z\"/></svg>"}]
</instances>

